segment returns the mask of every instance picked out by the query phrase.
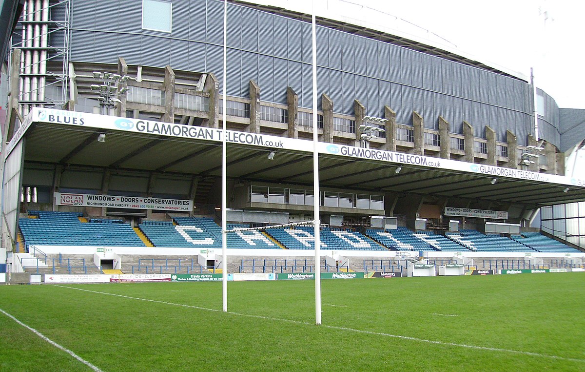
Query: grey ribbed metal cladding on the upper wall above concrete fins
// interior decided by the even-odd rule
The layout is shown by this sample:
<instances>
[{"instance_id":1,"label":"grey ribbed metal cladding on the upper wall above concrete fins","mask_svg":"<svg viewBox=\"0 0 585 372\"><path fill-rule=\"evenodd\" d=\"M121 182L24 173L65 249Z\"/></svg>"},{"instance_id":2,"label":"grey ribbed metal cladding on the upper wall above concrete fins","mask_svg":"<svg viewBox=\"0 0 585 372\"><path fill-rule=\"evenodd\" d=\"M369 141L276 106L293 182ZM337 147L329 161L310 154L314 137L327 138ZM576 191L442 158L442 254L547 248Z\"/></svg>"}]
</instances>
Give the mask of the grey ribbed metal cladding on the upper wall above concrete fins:
<instances>
[{"instance_id":1,"label":"grey ribbed metal cladding on the upper wall above concrete fins","mask_svg":"<svg viewBox=\"0 0 585 372\"><path fill-rule=\"evenodd\" d=\"M212 72L221 87L223 2L172 4L172 32L166 33L142 29L142 0L76 0L70 60L117 63L124 57L128 64ZM249 97L249 80L254 80L261 100L286 104L290 86L299 105L311 107L309 23L228 4L228 35L229 95ZM318 94L331 97L334 112L353 115L359 100L368 115L377 117L388 105L400 124L412 125L417 111L428 129L438 129L441 115L455 134L463 134L463 121L480 138L487 125L501 142L507 130L519 145L531 134L525 81L321 26L316 38ZM550 138L549 132L545 128L541 137L559 146L558 136Z\"/></svg>"}]
</instances>

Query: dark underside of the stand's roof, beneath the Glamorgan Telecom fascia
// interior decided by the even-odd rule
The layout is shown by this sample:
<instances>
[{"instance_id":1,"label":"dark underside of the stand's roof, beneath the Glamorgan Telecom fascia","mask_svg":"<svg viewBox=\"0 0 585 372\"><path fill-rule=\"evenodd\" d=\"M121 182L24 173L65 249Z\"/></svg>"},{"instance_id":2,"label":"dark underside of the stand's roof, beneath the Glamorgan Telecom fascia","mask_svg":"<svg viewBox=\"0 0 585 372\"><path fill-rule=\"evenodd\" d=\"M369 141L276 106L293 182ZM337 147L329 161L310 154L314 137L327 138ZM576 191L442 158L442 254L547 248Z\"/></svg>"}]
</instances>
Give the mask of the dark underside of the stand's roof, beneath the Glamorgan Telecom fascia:
<instances>
[{"instance_id":1,"label":"dark underside of the stand's roof, beneath the Glamorgan Telecom fascia","mask_svg":"<svg viewBox=\"0 0 585 372\"><path fill-rule=\"evenodd\" d=\"M106 135L105 142L98 141L101 133ZM26 163L48 163L103 168L104 170L178 173L200 176L203 179L221 178L221 141L35 121L27 129L25 137L25 166ZM303 142L312 146L311 141ZM291 148L275 149L232 142L227 145L227 173L230 179L312 185L313 155L312 152L307 151L307 148L297 151ZM268 159L271 151L276 153L273 160ZM400 162L403 159L398 156L408 155L397 153L394 155L395 161L389 163L375 159L320 153L320 186L353 192L360 190L389 192L400 194L400 196L418 194L448 197L450 200L482 199L522 204L526 207L585 200L585 187L582 186L414 165L406 161ZM430 159L439 163L453 162ZM479 166L457 163L467 166L468 169ZM401 168L399 173L397 173L398 167ZM539 174L536 173L536 175ZM494 179L495 183L492 183Z\"/></svg>"}]
</instances>

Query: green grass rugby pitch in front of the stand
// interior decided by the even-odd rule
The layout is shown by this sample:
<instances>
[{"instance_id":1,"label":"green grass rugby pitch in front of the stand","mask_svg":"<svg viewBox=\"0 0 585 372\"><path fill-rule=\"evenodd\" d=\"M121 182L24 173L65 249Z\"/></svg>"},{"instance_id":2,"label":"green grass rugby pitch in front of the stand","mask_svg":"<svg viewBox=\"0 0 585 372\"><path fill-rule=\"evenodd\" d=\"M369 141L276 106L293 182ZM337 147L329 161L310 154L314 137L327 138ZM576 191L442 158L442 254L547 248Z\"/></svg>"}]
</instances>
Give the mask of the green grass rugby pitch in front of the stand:
<instances>
[{"instance_id":1,"label":"green grass rugby pitch in front of the stand","mask_svg":"<svg viewBox=\"0 0 585 372\"><path fill-rule=\"evenodd\" d=\"M0 286L102 371L583 371L585 274ZM116 296L117 295L117 296ZM150 300L150 301L147 301ZM0 313L0 370L91 371Z\"/></svg>"}]
</instances>

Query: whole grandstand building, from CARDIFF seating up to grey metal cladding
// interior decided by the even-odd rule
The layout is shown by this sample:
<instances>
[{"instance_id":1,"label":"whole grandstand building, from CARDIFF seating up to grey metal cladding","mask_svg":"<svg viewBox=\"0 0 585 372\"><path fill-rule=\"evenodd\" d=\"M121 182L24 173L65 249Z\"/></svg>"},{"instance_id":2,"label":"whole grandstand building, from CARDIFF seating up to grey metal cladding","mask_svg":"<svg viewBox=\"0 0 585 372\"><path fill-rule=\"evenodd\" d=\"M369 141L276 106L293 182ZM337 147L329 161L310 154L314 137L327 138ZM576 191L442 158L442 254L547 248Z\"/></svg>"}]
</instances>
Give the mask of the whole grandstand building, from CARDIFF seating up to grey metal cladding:
<instances>
[{"instance_id":1,"label":"whole grandstand building, from CARDIFF seating up to grey metal cladding","mask_svg":"<svg viewBox=\"0 0 585 372\"><path fill-rule=\"evenodd\" d=\"M531 223L585 205L585 110L318 14L315 195L311 23L269 3L228 4L223 107L222 1L25 1L4 97L5 272L216 272L223 138L229 227L260 227L228 234L229 272L582 267L584 240ZM312 228L271 227L312 220L315 197L318 263Z\"/></svg>"}]
</instances>

